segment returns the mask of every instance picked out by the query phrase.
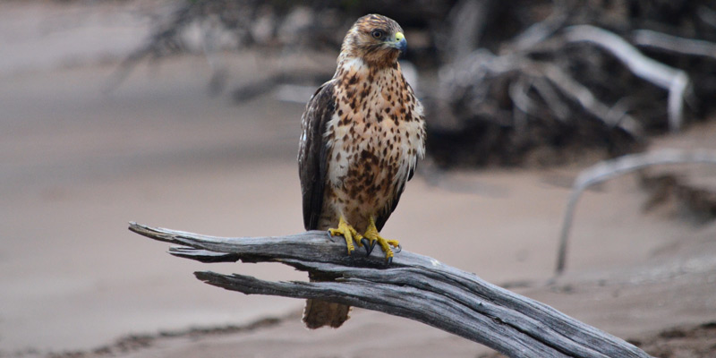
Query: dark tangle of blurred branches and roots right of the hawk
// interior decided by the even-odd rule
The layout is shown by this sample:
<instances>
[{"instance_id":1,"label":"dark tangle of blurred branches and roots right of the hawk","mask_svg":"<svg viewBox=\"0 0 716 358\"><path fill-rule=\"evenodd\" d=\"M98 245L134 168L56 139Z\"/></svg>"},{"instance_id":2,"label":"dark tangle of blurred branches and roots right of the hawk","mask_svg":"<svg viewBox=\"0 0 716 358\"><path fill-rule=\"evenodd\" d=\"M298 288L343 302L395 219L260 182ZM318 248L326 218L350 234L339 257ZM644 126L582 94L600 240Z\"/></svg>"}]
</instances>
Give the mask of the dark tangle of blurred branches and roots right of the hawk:
<instances>
[{"instance_id":1,"label":"dark tangle of blurred branches and roots right of the hawk","mask_svg":"<svg viewBox=\"0 0 716 358\"><path fill-rule=\"evenodd\" d=\"M441 66L427 106L439 165L616 157L716 110L713 4L587 3L483 7L481 48Z\"/></svg>"}]
</instances>

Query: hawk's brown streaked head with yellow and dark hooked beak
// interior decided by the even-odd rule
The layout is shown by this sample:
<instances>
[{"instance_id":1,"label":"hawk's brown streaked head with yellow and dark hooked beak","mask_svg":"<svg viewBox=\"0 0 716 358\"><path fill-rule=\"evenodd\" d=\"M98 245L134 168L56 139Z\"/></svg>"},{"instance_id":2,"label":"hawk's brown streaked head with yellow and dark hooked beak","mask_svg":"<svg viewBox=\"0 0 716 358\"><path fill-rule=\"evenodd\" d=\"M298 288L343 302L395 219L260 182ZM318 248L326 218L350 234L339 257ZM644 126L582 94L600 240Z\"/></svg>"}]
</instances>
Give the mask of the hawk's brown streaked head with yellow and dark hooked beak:
<instances>
[{"instance_id":1,"label":"hawk's brown streaked head with yellow and dark hooked beak","mask_svg":"<svg viewBox=\"0 0 716 358\"><path fill-rule=\"evenodd\" d=\"M343 58L361 58L374 66L391 66L405 52L407 42L403 29L393 19L370 14L355 21L341 46Z\"/></svg>"}]
</instances>

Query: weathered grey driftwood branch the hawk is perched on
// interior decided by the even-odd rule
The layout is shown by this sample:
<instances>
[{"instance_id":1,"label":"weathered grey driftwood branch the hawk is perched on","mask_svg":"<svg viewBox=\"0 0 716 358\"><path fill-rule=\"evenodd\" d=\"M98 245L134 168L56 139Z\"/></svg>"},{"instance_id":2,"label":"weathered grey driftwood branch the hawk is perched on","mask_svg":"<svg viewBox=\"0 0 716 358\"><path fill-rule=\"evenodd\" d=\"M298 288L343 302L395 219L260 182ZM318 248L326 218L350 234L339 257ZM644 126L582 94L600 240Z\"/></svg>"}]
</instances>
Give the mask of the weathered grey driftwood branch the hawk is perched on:
<instances>
[{"instance_id":1,"label":"weathered grey driftwood branch the hawk is perched on","mask_svg":"<svg viewBox=\"0 0 716 358\"><path fill-rule=\"evenodd\" d=\"M345 241L311 231L223 238L130 224L149 238L177 243L169 253L201 262L280 262L336 277L330 282L270 282L196 272L212 286L243 294L319 298L382 311L487 345L511 357L649 357L634 345L438 260L408 251L387 267L379 252L345 254Z\"/></svg>"}]
</instances>

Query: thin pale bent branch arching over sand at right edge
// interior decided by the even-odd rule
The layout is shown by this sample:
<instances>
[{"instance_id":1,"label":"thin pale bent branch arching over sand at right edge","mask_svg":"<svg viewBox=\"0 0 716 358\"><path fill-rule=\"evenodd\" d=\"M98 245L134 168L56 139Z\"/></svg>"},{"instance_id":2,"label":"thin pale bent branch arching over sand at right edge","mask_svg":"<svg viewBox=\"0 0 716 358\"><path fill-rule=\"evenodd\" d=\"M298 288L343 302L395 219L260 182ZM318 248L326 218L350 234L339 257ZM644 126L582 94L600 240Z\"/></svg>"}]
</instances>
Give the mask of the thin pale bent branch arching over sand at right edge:
<instances>
[{"instance_id":1,"label":"thin pale bent branch arching over sand at right edge","mask_svg":"<svg viewBox=\"0 0 716 358\"><path fill-rule=\"evenodd\" d=\"M606 160L594 166L584 169L572 184L572 192L567 200L567 209L562 222L562 231L559 234L559 247L557 253L557 265L555 273L561 274L567 261L567 241L569 230L572 228L572 221L575 216L577 200L582 193L596 183L601 183L619 175L626 175L648 166L666 164L703 163L716 164L716 151L661 149L649 153L630 154L623 157Z\"/></svg>"}]
</instances>

